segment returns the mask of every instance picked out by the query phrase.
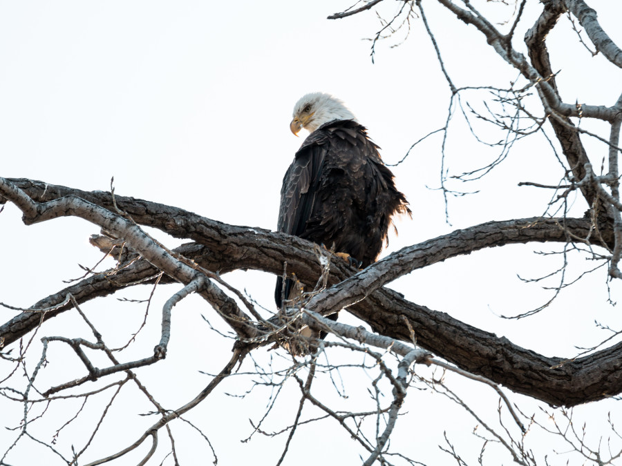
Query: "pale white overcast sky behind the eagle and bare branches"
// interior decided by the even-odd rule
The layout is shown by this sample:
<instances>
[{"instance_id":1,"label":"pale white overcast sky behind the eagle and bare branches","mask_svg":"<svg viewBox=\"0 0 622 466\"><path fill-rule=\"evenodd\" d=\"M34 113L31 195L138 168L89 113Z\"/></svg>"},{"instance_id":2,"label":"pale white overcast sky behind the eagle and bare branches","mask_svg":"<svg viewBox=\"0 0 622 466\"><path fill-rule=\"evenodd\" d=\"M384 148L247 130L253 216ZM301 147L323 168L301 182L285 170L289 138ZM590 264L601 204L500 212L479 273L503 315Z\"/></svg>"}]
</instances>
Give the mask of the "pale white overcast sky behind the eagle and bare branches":
<instances>
[{"instance_id":1,"label":"pale white overcast sky behind the eagle and bare branches","mask_svg":"<svg viewBox=\"0 0 622 466\"><path fill-rule=\"evenodd\" d=\"M511 14L511 8L479 3L498 21ZM381 11L389 16L396 5L399 2L388 1ZM590 1L590 5L601 11L603 28L622 43L622 5L605 0ZM368 127L387 163L397 162L413 142L444 126L449 88L422 23L413 21L410 37L399 47L390 48L402 41L401 32L396 39L380 42L372 64L370 42L364 39L373 37L379 28L373 12L340 21L326 19L348 6L350 2L326 0L0 3L0 175L89 191L109 190L114 176L119 195L179 206L222 222L274 229L283 173L302 142L291 135L288 124L295 101L304 93L321 90L343 99ZM516 72L482 46L484 39L475 28L464 26L433 2L424 1L424 6L456 86L507 87L516 79ZM527 9L516 37L524 35L536 14L537 10ZM521 52L523 49L519 46ZM574 40L567 19L561 19L550 35L549 49L554 70L560 70L558 85L566 101L614 103L620 93L621 72L601 56L590 59ZM468 100L476 108L483 108L485 95L464 94L466 97L472 97ZM446 146L450 174L478 168L496 157L497 149L473 141L460 115L453 125ZM500 139L499 133L478 125L488 141ZM607 134L604 126L592 128ZM398 223L400 234L391 237L390 251L480 222L539 215L545 211L550 193L519 188L517 183L556 184L562 175L542 139L516 144L509 159L489 177L473 184L451 185L480 193L451 199L449 226L444 221L442 195L426 187L439 185L440 143L438 135L428 138L406 162L393 168L399 188L411 202L413 220ZM605 147L590 139L585 144L598 164ZM584 202L578 200L573 215L582 215L584 210ZM92 266L99 260L87 242L97 228L82 221L59 219L26 227L17 209L8 205L0 214L0 232L0 301L14 306L28 307L62 289L62 280L82 274L78 263ZM167 246L178 244L166 237L162 240ZM545 275L559 266L559 257L536 256L531 253L534 249L558 247L480 251L415 271L392 286L417 303L551 356L573 356L575 345L589 346L605 338L604 333L593 331L594 319L616 329L622 327L619 312L606 303L602 272L565 290L554 306L529 320L497 318L498 314L537 307L549 298L550 291L516 278L517 273L526 278ZM578 259L572 267L569 273L575 276L585 269L585 260ZM27 277L34 282L26 283ZM265 307L274 307L272 275L237 272L225 278L247 289ZM158 289L150 325L125 360L151 351L162 302L177 290ZM619 290L619 284L612 284L614 300L620 297ZM139 288L124 291L120 297L145 299L148 294L149 289ZM138 328L144 308L111 299L85 304L84 310L114 346ZM3 321L8 320L11 311L1 312ZM76 316L67 314L46 323L35 340L43 335L75 337L83 332L84 325L77 323ZM207 384L209 378L197 370L218 372L229 358L230 343L209 331L201 314L218 323L214 311L200 300L189 299L176 307L167 360L137 371L153 388L154 396L171 409L183 405ZM341 318L348 322L346 315ZM124 329L118 328L119 321L124 322ZM33 349L36 355L39 349ZM285 365L274 352L260 351L258 358L263 362L272 356L280 367ZM41 387L84 374L79 365L73 365L75 355L60 344L50 349L48 360L48 368L41 373ZM103 360L100 363L105 364ZM423 369L422 373L427 374ZM326 387L319 383L318 389L333 402L343 403L340 406L360 409L361 403L369 401L368 380L361 374L348 377L348 371L343 376L349 380L348 400L337 400L330 382L325 381ZM249 443L240 443L252 432L248 418L254 422L261 418L270 390L245 399L223 393L242 394L249 387L249 378L232 378L188 416L209 437L221 465L274 464L281 454L283 436L266 439L256 435ZM292 422L299 394L295 384L288 387L266 430L277 431ZM482 416L495 418L497 399L491 390L470 382L456 382L455 387ZM153 423L153 418L138 416L151 407L133 389L122 391L120 397L119 406L124 408L111 410L95 437L92 454L84 457L86 462L128 445ZM535 409L522 396L513 400L525 403L527 411ZM105 401L89 402L85 409L90 416L85 419L96 422L93 416L102 403ZM449 457L437 447L446 430L475 462L479 447L470 433L475 420L448 400L427 392L413 390L407 404L409 414L399 420L402 429L395 436L395 449L404 445L402 452L413 459L449 464ZM592 404L577 412L599 423L612 406ZM33 427L34 431L49 440L77 407L73 401L52 405L47 416L57 416L57 422L40 430ZM0 412L7 427L19 423L19 405L0 399ZM596 433L600 428L595 427ZM81 448L84 432L91 430L86 420L67 427L57 447L68 456L69 445ZM211 463L209 447L200 436L179 423L173 431L178 432L182 464ZM2 452L15 436L15 431L0 429ZM546 451L540 440L533 441L540 451ZM304 452L308 443L312 444L311 454ZM489 448L491 460L495 447ZM158 464L168 449L162 436L153 464ZM305 426L290 450L285 465L357 464L361 453L330 421ZM138 456L146 451L141 449ZM48 453L43 447L21 442L6 461L10 465L39 464L37 458ZM111 464L135 464L138 456ZM50 458L46 464L61 464L54 456L46 458ZM558 459L565 464L565 457ZM171 458L167 462L164 464L172 464ZM509 464L508 459L505 462Z\"/></svg>"}]
</instances>

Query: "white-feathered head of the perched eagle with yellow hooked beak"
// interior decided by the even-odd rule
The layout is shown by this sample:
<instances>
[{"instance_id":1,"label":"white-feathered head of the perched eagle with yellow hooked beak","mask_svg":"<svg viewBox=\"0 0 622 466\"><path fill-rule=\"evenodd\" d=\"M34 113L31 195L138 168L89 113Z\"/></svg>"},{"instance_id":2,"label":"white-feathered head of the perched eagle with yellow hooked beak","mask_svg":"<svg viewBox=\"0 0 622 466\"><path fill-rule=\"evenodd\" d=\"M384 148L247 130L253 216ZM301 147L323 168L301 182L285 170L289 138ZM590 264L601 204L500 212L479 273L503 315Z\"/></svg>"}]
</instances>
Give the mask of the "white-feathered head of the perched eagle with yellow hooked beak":
<instances>
[{"instance_id":1,"label":"white-feathered head of the perched eagle with yellow hooked beak","mask_svg":"<svg viewBox=\"0 0 622 466\"><path fill-rule=\"evenodd\" d=\"M337 97L324 93L303 95L294 105L294 115L290 130L298 135L301 128L313 133L325 123L335 119L353 119L355 116Z\"/></svg>"}]
</instances>

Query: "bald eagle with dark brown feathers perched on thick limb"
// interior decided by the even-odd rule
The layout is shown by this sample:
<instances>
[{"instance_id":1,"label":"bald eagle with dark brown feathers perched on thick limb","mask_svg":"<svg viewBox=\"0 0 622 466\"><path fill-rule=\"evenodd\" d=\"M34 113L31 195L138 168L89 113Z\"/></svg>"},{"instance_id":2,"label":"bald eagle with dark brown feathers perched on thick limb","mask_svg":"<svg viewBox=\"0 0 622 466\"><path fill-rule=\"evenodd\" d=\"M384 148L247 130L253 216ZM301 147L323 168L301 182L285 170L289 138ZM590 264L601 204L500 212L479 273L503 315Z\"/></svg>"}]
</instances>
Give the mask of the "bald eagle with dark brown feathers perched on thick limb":
<instances>
[{"instance_id":1,"label":"bald eagle with dark brown feathers perched on thick limb","mask_svg":"<svg viewBox=\"0 0 622 466\"><path fill-rule=\"evenodd\" d=\"M391 218L408 213L379 147L343 102L332 95L304 95L294 106L290 129L310 132L283 178L278 229L347 253L363 267L375 262ZM280 308L292 280L276 280ZM336 316L335 316L336 318Z\"/></svg>"}]
</instances>

